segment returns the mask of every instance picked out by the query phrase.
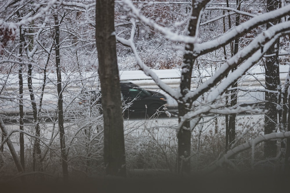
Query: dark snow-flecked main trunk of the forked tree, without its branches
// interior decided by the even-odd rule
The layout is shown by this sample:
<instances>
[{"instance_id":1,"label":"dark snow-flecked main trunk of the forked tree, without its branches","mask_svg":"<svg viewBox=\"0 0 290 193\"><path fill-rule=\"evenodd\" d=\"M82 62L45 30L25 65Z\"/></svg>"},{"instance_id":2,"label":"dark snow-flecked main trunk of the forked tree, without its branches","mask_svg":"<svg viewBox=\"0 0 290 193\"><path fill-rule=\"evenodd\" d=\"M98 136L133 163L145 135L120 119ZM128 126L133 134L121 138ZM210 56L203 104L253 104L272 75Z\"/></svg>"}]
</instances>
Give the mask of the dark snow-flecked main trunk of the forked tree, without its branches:
<instances>
[{"instance_id":1,"label":"dark snow-flecked main trunk of the forked tree, without its branches","mask_svg":"<svg viewBox=\"0 0 290 193\"><path fill-rule=\"evenodd\" d=\"M198 2L193 0L193 10L191 12L191 20L188 25L188 35L196 36L196 30L199 25L198 18L200 11L206 5L208 1ZM193 43L187 43L185 45L185 51L183 55L182 71L181 71L181 82L180 92L181 97L178 99L178 121L181 121L186 113L191 109L192 100L186 99L185 95L190 92L192 68L195 62L196 56L193 55L192 51L194 48ZM178 139L178 159L177 159L177 171L178 173L185 172L190 174L190 151L191 151L191 129L190 122L185 122L177 133Z\"/></svg>"}]
</instances>

